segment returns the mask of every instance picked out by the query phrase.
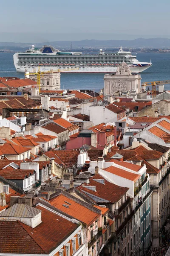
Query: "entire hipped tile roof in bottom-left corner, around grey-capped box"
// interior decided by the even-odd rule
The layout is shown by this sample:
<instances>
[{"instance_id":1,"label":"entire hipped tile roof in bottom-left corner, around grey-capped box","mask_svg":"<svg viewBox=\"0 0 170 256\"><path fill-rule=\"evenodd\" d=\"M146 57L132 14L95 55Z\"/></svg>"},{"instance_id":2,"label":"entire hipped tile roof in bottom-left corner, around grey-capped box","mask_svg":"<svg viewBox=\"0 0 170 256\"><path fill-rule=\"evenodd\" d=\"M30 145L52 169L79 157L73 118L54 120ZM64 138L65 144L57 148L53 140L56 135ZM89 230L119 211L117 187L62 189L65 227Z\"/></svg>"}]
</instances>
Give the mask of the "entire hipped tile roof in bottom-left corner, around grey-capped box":
<instances>
[{"instance_id":1,"label":"entire hipped tile roof in bottom-left corner, around grey-capped box","mask_svg":"<svg viewBox=\"0 0 170 256\"><path fill-rule=\"evenodd\" d=\"M42 215L42 223L37 227L20 221L0 221L0 237L3 238L0 248L4 253L50 254L78 227L48 209L35 208L41 210Z\"/></svg>"}]
</instances>

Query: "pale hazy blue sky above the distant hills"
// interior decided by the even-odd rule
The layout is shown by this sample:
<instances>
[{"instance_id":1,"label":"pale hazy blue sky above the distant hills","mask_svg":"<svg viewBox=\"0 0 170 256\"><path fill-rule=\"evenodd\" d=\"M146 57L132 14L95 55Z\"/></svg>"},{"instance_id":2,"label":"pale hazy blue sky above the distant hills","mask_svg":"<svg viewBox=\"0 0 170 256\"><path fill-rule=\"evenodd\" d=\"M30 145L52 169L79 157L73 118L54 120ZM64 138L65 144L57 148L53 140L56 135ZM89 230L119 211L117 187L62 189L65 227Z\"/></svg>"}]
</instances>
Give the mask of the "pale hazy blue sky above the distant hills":
<instances>
[{"instance_id":1,"label":"pale hazy blue sky above the distant hills","mask_svg":"<svg viewBox=\"0 0 170 256\"><path fill-rule=\"evenodd\" d=\"M170 0L0 0L1 42L170 38Z\"/></svg>"}]
</instances>

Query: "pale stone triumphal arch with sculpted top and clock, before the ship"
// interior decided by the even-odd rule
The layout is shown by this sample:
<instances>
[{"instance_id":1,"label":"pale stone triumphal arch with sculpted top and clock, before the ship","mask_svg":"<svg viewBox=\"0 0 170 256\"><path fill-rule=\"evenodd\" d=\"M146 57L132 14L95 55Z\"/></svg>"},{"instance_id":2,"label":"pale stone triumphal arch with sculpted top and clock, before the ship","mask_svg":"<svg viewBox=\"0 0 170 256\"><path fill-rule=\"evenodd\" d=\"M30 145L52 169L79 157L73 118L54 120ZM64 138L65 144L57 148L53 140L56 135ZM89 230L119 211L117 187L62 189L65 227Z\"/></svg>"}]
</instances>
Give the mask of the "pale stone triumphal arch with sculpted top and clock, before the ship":
<instances>
[{"instance_id":1,"label":"pale stone triumphal arch with sculpted top and clock, before the ship","mask_svg":"<svg viewBox=\"0 0 170 256\"><path fill-rule=\"evenodd\" d=\"M122 62L120 67L117 67L116 74L107 74L104 76L104 94L113 96L116 92L136 91L140 93L141 76L133 74L130 67Z\"/></svg>"}]
</instances>

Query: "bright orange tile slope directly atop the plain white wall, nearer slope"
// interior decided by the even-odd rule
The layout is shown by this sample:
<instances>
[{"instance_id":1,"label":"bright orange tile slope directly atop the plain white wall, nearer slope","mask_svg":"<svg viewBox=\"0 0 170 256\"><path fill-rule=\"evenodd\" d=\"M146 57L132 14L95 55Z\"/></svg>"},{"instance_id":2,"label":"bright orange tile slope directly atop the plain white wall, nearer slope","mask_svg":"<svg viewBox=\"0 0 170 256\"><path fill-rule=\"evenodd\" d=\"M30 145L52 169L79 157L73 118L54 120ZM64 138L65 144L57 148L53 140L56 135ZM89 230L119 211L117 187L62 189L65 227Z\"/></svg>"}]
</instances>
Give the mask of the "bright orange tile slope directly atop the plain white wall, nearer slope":
<instances>
[{"instance_id":1,"label":"bright orange tile slope directly atop the plain white wall, nearer slope","mask_svg":"<svg viewBox=\"0 0 170 256\"><path fill-rule=\"evenodd\" d=\"M132 180L133 182L136 182L136 180L138 180L139 177L141 176L139 174L135 174L135 173L132 173L132 172L127 172L125 170L119 169L115 166L109 166L109 167L105 168L104 170L107 171L107 172L111 172L114 175L123 177L127 180Z\"/></svg>"}]
</instances>

